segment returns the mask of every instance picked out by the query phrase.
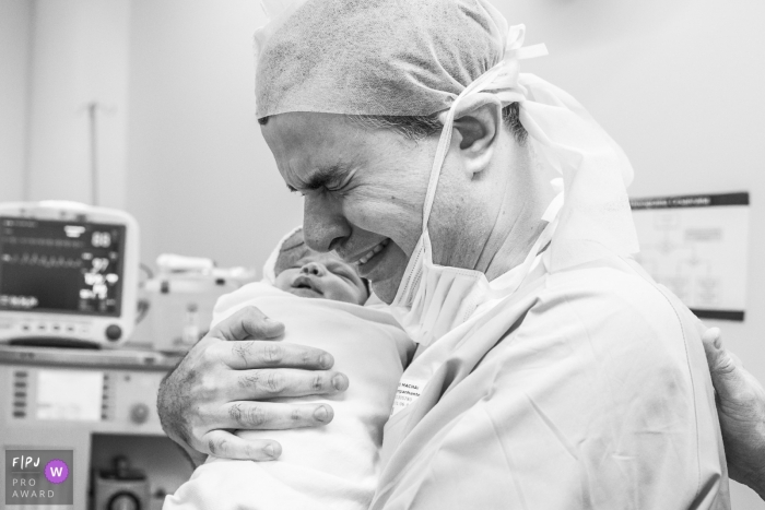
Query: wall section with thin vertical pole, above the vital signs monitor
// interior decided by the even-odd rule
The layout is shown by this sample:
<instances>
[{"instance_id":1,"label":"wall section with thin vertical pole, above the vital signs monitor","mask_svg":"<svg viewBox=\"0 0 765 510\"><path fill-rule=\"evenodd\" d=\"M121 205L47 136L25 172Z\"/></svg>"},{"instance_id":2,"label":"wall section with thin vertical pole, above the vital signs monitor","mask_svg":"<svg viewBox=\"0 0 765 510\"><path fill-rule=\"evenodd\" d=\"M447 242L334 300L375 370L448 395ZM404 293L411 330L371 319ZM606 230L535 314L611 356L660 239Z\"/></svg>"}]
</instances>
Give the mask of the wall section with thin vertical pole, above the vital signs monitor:
<instances>
[{"instance_id":1,"label":"wall section with thin vertical pole, above the vital signs monitor","mask_svg":"<svg viewBox=\"0 0 765 510\"><path fill-rule=\"evenodd\" d=\"M91 203L95 102L98 204L125 207L130 0L32 3L27 199Z\"/></svg>"}]
</instances>

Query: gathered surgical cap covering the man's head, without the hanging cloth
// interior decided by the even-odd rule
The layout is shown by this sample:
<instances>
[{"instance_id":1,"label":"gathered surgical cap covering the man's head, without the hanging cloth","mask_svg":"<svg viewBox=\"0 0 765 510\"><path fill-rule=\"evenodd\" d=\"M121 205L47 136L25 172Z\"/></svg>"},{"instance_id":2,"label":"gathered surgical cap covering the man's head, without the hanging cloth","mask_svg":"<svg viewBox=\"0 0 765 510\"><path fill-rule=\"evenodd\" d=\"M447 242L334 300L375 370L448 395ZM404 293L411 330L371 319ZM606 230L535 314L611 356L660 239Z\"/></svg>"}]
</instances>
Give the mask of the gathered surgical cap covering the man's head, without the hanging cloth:
<instances>
[{"instance_id":1,"label":"gathered surgical cap covering the man's head, without the hanging cloth","mask_svg":"<svg viewBox=\"0 0 765 510\"><path fill-rule=\"evenodd\" d=\"M431 115L505 51L507 23L481 0L269 3L273 19L255 35L258 118Z\"/></svg>"}]
</instances>

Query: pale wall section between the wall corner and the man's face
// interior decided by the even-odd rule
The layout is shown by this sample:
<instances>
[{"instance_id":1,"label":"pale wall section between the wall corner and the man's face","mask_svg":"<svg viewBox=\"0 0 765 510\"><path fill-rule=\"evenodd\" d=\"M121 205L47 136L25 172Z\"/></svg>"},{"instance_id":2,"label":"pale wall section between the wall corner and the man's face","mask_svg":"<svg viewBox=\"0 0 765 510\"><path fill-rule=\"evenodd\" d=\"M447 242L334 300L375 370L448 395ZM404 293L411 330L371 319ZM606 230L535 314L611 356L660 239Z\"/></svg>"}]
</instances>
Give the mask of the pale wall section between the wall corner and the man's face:
<instances>
[{"instance_id":1,"label":"pale wall section between the wall corner and the man's face","mask_svg":"<svg viewBox=\"0 0 765 510\"><path fill-rule=\"evenodd\" d=\"M302 221L255 117L256 1L133 0L128 210L143 258L256 265Z\"/></svg>"}]
</instances>

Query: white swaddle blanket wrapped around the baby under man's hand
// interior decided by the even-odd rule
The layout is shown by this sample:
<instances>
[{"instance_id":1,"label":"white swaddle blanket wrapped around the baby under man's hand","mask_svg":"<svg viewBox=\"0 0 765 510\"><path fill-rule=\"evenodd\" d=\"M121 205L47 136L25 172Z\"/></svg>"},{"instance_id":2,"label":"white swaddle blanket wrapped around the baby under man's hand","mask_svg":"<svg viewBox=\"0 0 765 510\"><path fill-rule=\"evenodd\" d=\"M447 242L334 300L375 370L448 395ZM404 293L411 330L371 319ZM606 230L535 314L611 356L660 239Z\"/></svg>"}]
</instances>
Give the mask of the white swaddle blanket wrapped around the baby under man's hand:
<instances>
[{"instance_id":1,"label":"white swaddle blanket wrapped around the baby under man's hand","mask_svg":"<svg viewBox=\"0 0 765 510\"><path fill-rule=\"evenodd\" d=\"M223 296L213 324L246 306L284 322L284 342L331 353L350 387L326 399L282 400L328 402L334 419L319 428L237 432L245 439L281 442L281 458L252 462L210 456L167 496L163 510L366 510L377 484L382 427L413 343L384 311L296 297L266 283Z\"/></svg>"}]
</instances>

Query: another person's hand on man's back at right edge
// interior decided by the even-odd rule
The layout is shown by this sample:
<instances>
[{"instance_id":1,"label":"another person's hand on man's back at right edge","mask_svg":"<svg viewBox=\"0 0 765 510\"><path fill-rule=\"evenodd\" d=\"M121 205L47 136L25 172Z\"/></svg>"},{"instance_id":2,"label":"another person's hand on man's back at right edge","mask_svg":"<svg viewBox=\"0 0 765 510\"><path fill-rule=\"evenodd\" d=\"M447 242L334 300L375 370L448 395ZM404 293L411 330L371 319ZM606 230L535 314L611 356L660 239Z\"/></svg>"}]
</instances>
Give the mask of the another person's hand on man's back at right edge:
<instances>
[{"instance_id":1,"label":"another person's hand on man's back at right edge","mask_svg":"<svg viewBox=\"0 0 765 510\"><path fill-rule=\"evenodd\" d=\"M722 346L719 329L707 330L702 340L717 392L729 475L765 499L765 389Z\"/></svg>"}]
</instances>

